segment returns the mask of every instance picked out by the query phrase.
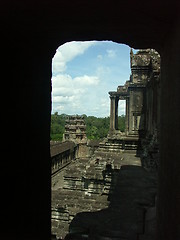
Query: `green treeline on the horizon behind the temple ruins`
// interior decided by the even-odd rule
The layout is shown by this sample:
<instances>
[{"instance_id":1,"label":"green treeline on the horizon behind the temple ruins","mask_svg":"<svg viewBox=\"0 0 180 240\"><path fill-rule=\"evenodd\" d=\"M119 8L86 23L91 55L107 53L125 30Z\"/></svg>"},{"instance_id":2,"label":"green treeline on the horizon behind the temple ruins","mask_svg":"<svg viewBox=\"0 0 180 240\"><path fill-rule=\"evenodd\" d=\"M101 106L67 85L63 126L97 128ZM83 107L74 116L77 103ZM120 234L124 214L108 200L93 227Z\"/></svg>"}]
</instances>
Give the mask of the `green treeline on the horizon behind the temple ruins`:
<instances>
[{"instance_id":1,"label":"green treeline on the horizon behind the temple ruins","mask_svg":"<svg viewBox=\"0 0 180 240\"><path fill-rule=\"evenodd\" d=\"M65 121L68 115L54 113L51 115L51 140L62 141L65 131ZM86 134L88 139L102 139L107 136L109 131L109 117L97 118L94 116L83 115L86 124ZM118 128L125 130L125 116L118 117Z\"/></svg>"}]
</instances>

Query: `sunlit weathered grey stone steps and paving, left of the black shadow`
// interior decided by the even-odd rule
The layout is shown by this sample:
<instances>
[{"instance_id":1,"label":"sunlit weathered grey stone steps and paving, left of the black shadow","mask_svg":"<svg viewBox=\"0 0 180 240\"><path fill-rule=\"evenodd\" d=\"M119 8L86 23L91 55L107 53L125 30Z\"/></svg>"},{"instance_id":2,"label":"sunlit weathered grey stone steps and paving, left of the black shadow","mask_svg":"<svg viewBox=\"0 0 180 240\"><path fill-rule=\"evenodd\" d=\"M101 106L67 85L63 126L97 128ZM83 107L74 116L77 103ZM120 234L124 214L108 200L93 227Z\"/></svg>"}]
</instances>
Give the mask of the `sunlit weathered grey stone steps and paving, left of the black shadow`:
<instances>
[{"instance_id":1,"label":"sunlit weathered grey stone steps and paving, left of the black shadow","mask_svg":"<svg viewBox=\"0 0 180 240\"><path fill-rule=\"evenodd\" d=\"M52 233L64 237L68 231L63 232L63 226L66 224L67 229L77 213L108 208L120 168L126 164L140 166L140 159L133 153L121 153L121 157L116 155L114 160L92 157L78 159L68 165L61 173L64 178L61 188L52 191ZM77 229L82 230L83 227L78 225Z\"/></svg>"}]
</instances>

